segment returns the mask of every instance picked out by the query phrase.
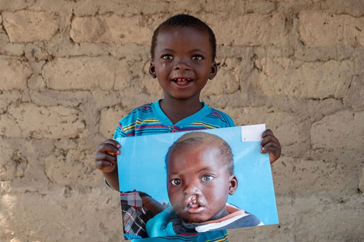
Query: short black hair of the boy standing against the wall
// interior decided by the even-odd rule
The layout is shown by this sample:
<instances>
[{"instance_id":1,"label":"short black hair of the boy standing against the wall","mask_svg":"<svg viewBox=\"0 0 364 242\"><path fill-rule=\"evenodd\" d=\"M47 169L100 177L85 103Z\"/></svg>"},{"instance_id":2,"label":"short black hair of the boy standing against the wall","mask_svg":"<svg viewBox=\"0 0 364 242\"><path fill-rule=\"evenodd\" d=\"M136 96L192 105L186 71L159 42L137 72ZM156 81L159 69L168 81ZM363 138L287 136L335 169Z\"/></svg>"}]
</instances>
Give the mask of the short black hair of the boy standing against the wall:
<instances>
[{"instance_id":1,"label":"short black hair of the boy standing against the wall","mask_svg":"<svg viewBox=\"0 0 364 242\"><path fill-rule=\"evenodd\" d=\"M187 15L187 14L178 14L173 17L170 17L169 19L167 19L166 21L161 23L158 26L158 28L156 28L156 30L154 30L153 37L152 37L152 43L151 43L151 49L150 49L152 60L154 59L154 50L157 45L157 37L158 37L159 31L161 31L162 29L166 29L168 27L175 27L175 26L193 27L193 28L198 28L198 29L207 31L207 33L209 35L209 42L211 45L212 61L214 61L214 59L216 57L215 34L213 33L212 29L206 23L202 22L201 20L199 20L196 17Z\"/></svg>"}]
</instances>

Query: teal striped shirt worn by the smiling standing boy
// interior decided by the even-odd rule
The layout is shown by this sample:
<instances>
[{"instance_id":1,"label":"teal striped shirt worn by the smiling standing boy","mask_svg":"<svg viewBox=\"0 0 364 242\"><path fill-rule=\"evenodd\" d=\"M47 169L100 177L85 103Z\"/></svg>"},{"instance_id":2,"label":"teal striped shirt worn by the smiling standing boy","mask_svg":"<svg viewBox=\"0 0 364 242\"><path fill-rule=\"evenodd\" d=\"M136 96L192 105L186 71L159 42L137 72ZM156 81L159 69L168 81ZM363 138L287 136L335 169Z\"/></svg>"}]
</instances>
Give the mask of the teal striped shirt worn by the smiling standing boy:
<instances>
[{"instance_id":1,"label":"teal striped shirt worn by the smiling standing boy","mask_svg":"<svg viewBox=\"0 0 364 242\"><path fill-rule=\"evenodd\" d=\"M217 129L234 127L233 119L226 113L211 108L203 103L203 107L176 124L162 111L159 101L134 108L122 118L114 134L114 139L130 136L155 135L173 132ZM223 242L229 241L226 230L203 233L179 234L175 236L132 239L133 242Z\"/></svg>"}]
</instances>

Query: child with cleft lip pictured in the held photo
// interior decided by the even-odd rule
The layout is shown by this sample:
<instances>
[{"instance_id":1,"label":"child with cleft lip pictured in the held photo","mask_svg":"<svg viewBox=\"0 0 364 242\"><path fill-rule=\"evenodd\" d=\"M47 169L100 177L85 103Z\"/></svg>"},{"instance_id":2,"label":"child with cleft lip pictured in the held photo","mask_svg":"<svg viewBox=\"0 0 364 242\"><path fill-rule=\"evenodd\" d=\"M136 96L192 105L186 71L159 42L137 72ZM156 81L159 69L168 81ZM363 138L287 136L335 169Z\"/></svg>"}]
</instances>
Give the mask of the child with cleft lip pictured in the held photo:
<instances>
[{"instance_id":1,"label":"child with cleft lip pictured in the held photo","mask_svg":"<svg viewBox=\"0 0 364 242\"><path fill-rule=\"evenodd\" d=\"M190 132L166 155L171 207L147 223L150 237L263 225L254 215L226 204L238 189L233 152L216 135Z\"/></svg>"}]
</instances>

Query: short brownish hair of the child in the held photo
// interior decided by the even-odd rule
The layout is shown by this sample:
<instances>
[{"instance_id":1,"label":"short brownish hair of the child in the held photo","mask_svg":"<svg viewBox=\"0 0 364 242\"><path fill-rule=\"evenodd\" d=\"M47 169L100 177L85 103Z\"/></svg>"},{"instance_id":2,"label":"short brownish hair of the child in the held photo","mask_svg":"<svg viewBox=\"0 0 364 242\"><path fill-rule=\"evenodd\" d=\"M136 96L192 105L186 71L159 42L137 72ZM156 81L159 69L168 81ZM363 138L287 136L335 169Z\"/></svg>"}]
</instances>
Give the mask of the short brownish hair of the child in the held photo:
<instances>
[{"instance_id":1,"label":"short brownish hair of the child in the held photo","mask_svg":"<svg viewBox=\"0 0 364 242\"><path fill-rule=\"evenodd\" d=\"M216 147L219 149L221 157L228 165L228 171L232 175L234 173L234 157L233 151L230 145L217 135L209 134L206 132L190 132L176 140L171 147L169 147L168 152L165 157L166 168L168 169L167 161L169 156L176 148L183 146L198 146L198 145L208 145L209 147Z\"/></svg>"}]
</instances>

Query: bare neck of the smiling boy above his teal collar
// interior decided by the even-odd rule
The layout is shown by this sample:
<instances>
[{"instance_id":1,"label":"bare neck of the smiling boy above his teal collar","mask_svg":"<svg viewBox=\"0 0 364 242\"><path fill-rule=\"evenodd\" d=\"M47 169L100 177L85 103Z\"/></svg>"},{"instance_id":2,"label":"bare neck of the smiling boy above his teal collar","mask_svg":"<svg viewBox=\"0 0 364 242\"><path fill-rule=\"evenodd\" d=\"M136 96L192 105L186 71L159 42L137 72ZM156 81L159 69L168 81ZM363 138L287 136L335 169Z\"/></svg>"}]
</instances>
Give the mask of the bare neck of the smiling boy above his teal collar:
<instances>
[{"instance_id":1,"label":"bare neck of the smiling boy above his teal collar","mask_svg":"<svg viewBox=\"0 0 364 242\"><path fill-rule=\"evenodd\" d=\"M199 98L175 99L166 96L159 101L159 105L173 125L198 112L203 107Z\"/></svg>"}]
</instances>

